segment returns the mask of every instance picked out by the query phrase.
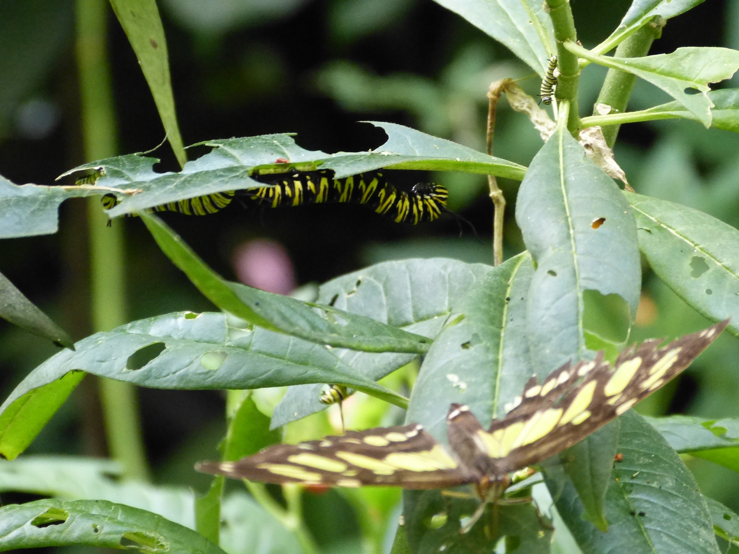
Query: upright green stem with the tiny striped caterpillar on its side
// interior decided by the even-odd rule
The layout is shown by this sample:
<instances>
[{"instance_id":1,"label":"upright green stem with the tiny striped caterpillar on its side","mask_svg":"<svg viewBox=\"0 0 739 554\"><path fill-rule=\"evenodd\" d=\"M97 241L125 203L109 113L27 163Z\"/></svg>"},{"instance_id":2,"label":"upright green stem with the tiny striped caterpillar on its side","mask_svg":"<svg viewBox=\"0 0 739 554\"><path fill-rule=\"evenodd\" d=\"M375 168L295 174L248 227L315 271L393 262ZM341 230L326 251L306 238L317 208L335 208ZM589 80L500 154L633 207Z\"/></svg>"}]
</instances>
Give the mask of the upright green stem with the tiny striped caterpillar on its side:
<instances>
[{"instance_id":1,"label":"upright green stem with the tiny striped caterpillar on its side","mask_svg":"<svg viewBox=\"0 0 739 554\"><path fill-rule=\"evenodd\" d=\"M556 39L557 66L559 77L556 81L556 99L567 100L570 103L570 112L567 128L576 134L580 128L580 118L577 107L577 83L580 78L580 65L577 55L565 48L565 42L577 42L575 21L569 0L546 0L549 7L549 16L554 27Z\"/></svg>"}]
</instances>

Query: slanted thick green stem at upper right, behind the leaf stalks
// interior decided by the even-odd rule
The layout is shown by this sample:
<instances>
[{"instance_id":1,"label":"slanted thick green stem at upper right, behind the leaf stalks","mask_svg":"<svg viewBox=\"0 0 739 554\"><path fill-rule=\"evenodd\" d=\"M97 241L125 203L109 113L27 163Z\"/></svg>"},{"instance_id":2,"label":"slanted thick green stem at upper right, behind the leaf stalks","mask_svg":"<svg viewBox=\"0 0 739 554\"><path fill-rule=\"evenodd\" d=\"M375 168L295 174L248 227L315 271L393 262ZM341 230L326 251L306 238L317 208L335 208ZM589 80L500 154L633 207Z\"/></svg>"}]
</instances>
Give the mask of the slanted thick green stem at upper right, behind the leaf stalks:
<instances>
[{"instance_id":1,"label":"slanted thick green stem at upper right, behind the leaf stalks","mask_svg":"<svg viewBox=\"0 0 739 554\"><path fill-rule=\"evenodd\" d=\"M655 18L655 21L641 27L636 33L619 44L619 47L616 48L616 58L641 58L647 55L655 38L659 38L661 35L662 27L666 22L664 18L658 17ZM633 73L619 71L619 69L608 69L608 74L596 102L610 106L609 114L622 114L626 111L634 83L636 83L636 75L633 75ZM595 113L597 114L597 112ZM613 148L613 144L616 143L619 129L620 125L618 123L603 129L603 136L610 148Z\"/></svg>"}]
</instances>

